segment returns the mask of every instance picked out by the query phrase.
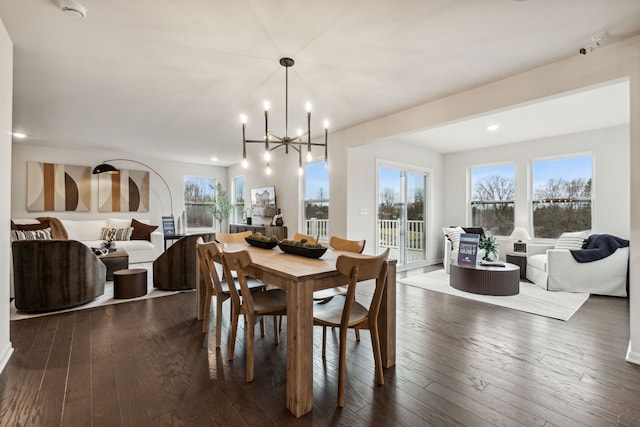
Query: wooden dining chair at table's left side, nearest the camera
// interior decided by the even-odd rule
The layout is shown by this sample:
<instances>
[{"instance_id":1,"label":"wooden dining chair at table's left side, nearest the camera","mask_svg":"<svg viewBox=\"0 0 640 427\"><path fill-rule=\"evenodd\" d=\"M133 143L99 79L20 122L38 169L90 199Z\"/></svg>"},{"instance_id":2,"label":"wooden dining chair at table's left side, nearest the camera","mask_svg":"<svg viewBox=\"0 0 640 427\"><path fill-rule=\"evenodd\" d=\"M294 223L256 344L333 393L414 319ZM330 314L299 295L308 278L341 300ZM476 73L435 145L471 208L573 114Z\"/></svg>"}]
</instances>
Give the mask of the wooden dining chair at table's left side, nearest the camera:
<instances>
[{"instance_id":1,"label":"wooden dining chair at table's left side, nearest the camera","mask_svg":"<svg viewBox=\"0 0 640 427\"><path fill-rule=\"evenodd\" d=\"M287 293L281 289L269 289L264 292L251 293L247 285L247 277L244 269L251 264L251 255L245 249L229 251L223 247L223 266L225 277L232 277L231 272L234 271L237 276L240 293L235 286L229 286L232 302L231 316L231 336L229 338L229 354L228 360L233 360L236 333L238 330L238 317L243 314L245 317L245 325L247 329L247 382L253 381L253 349L254 349L254 330L258 320L260 320L261 336L264 336L264 318L263 316L273 315L273 330L275 333L275 343L278 344L278 323L277 316L287 314ZM235 282L234 279L230 279Z\"/></svg>"}]
</instances>

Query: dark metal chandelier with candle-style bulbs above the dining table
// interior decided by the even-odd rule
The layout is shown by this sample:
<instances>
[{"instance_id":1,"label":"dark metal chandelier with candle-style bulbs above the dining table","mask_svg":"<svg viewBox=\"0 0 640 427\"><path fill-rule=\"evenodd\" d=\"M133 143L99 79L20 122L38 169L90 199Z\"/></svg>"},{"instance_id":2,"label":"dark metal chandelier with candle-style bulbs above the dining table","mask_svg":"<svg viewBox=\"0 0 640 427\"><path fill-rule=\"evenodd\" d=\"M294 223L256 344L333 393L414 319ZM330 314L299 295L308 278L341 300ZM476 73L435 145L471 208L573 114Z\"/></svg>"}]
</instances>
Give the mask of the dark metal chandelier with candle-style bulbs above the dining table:
<instances>
[{"instance_id":1,"label":"dark metal chandelier with candle-style bulbs above the dining table","mask_svg":"<svg viewBox=\"0 0 640 427\"><path fill-rule=\"evenodd\" d=\"M264 159L267 162L267 175L271 175L271 152L280 147L284 147L285 153L289 154L289 148L298 152L298 174L302 175L304 170L302 169L302 151L306 147L307 161L312 160L311 147L320 146L324 147L324 162L325 166L328 162L327 153L327 137L329 122L324 121L324 142L311 142L311 103L307 102L307 132L303 133L302 130L298 130L297 136L289 136L289 67L293 67L294 61L291 58L281 58L280 65L285 69L285 104L284 104L284 136L278 136L269 130L269 101L264 101L264 136L262 139L247 139L247 116L240 115L242 121L242 165L246 168L249 163L247 161L247 144L263 144L264 145Z\"/></svg>"}]
</instances>

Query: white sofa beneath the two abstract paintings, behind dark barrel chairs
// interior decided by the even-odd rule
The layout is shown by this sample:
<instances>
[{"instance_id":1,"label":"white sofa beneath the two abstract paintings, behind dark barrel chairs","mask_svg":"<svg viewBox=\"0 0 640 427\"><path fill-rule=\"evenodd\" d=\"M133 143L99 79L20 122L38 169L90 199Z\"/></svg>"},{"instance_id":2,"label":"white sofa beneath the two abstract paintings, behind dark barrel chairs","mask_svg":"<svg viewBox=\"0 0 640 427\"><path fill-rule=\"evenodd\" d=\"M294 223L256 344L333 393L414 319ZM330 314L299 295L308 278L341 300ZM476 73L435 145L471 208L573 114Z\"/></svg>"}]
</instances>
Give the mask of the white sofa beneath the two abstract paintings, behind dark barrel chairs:
<instances>
[{"instance_id":1,"label":"white sofa beneath the two abstract paintings, behind dark barrel chairs","mask_svg":"<svg viewBox=\"0 0 640 427\"><path fill-rule=\"evenodd\" d=\"M85 245L96 248L100 247L104 240L100 239L103 228L125 228L131 226L131 219L107 218L76 220L59 218L67 231L69 240L78 240ZM148 220L138 220L149 224ZM16 224L37 224L36 219L14 219ZM116 248L122 248L129 254L129 263L153 262L164 250L164 236L162 231L151 233L151 241L147 240L127 240L115 241Z\"/></svg>"}]
</instances>

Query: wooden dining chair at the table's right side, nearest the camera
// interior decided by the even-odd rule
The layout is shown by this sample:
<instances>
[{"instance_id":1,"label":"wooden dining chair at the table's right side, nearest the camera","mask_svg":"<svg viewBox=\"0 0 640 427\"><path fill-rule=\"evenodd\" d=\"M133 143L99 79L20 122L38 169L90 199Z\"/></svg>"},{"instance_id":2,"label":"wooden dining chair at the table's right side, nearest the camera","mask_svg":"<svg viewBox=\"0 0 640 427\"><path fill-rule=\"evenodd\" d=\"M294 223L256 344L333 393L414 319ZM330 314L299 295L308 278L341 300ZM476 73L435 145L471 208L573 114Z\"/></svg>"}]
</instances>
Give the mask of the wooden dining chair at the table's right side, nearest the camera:
<instances>
[{"instance_id":1,"label":"wooden dining chair at the table's right side, nearest the camera","mask_svg":"<svg viewBox=\"0 0 640 427\"><path fill-rule=\"evenodd\" d=\"M384 384L378 313L382 293L387 282L389 248L380 255L340 255L336 269L348 279L347 294L333 298L325 304L313 305L313 324L322 326L322 358L326 357L327 327L340 328L340 356L338 373L338 406L344 406L346 375L347 329L368 329L371 333L375 376L378 384ZM356 285L370 286L375 279L375 290L369 306L356 301Z\"/></svg>"}]
</instances>

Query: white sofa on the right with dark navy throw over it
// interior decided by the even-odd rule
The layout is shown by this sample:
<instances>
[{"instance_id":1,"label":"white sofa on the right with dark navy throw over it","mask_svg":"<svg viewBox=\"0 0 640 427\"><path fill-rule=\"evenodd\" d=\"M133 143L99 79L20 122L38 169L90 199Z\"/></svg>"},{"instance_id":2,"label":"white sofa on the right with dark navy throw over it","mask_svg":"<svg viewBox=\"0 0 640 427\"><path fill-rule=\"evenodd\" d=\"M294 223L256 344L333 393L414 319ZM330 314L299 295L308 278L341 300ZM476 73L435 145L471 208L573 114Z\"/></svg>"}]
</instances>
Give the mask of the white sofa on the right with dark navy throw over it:
<instances>
[{"instance_id":1,"label":"white sofa on the right with dark navy throw over it","mask_svg":"<svg viewBox=\"0 0 640 427\"><path fill-rule=\"evenodd\" d=\"M527 279L549 291L627 296L629 248L594 262L579 263L568 249L527 245Z\"/></svg>"}]
</instances>

